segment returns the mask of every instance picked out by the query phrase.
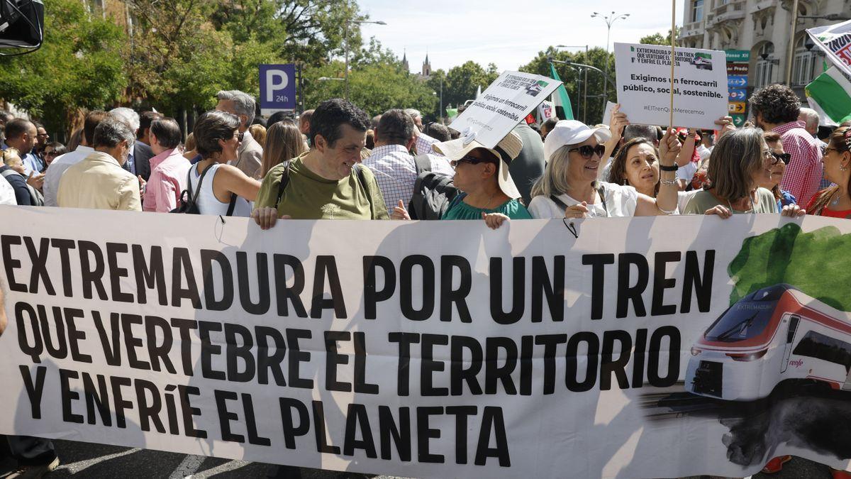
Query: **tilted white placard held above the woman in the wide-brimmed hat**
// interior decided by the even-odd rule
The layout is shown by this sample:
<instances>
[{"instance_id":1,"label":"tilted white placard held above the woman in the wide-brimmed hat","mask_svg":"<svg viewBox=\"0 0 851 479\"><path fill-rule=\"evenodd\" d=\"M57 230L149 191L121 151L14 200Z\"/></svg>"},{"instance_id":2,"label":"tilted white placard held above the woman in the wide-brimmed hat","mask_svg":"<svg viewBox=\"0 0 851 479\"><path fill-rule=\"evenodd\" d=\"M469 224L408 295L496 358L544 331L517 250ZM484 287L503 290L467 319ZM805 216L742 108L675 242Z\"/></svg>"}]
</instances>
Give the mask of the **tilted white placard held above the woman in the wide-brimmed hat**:
<instances>
[{"instance_id":1,"label":"tilted white placard held above the woman in the wide-brimmed hat","mask_svg":"<svg viewBox=\"0 0 851 479\"><path fill-rule=\"evenodd\" d=\"M502 72L449 128L493 148L560 84L532 73Z\"/></svg>"}]
</instances>

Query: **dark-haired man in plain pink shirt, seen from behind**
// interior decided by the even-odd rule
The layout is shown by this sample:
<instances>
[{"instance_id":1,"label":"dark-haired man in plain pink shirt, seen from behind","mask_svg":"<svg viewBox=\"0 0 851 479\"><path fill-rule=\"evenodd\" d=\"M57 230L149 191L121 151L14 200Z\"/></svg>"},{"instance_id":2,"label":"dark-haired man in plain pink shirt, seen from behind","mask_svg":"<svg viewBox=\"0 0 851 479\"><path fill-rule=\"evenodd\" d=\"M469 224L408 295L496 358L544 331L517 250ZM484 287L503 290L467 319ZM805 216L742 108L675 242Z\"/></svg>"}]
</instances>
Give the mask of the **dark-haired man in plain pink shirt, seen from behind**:
<instances>
[{"instance_id":1,"label":"dark-haired man in plain pink shirt, seen from behind","mask_svg":"<svg viewBox=\"0 0 851 479\"><path fill-rule=\"evenodd\" d=\"M177 207L180 192L186 189L186 173L191 164L183 157L180 145L180 126L174 118L151 122L151 177L148 179L143 211L168 213Z\"/></svg>"}]
</instances>

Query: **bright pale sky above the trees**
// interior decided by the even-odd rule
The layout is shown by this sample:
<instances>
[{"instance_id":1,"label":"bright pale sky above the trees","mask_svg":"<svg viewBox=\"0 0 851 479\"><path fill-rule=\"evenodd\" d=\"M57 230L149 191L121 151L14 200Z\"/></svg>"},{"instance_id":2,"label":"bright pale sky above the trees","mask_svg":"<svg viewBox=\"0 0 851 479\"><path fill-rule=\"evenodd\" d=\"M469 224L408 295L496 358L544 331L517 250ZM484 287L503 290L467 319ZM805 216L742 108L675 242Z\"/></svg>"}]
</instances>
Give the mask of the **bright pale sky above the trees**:
<instances>
[{"instance_id":1,"label":"bright pale sky above the trees","mask_svg":"<svg viewBox=\"0 0 851 479\"><path fill-rule=\"evenodd\" d=\"M606 24L592 12L630 14L612 26L610 43L637 43L671 28L668 0L360 0L361 10L386 26L363 25L363 38L374 36L402 57L413 72L426 58L431 69L448 70L467 60L500 71L528 63L548 45L606 45ZM542 6L545 5L545 6ZM683 23L683 0L677 0L677 25ZM609 47L611 49L611 46Z\"/></svg>"}]
</instances>

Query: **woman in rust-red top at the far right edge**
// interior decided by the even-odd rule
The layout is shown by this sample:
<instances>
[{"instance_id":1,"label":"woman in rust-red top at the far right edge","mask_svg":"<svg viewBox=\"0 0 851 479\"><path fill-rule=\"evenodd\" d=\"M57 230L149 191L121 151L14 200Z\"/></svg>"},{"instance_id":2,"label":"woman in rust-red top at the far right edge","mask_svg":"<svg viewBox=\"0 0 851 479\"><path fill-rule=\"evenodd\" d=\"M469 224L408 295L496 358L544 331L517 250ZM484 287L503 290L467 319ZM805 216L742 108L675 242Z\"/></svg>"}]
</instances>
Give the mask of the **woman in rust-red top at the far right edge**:
<instances>
[{"instance_id":1,"label":"woman in rust-red top at the far right edge","mask_svg":"<svg viewBox=\"0 0 851 479\"><path fill-rule=\"evenodd\" d=\"M807 205L813 215L851 219L851 127L837 128L825 148L825 180L834 183L815 193Z\"/></svg>"}]
</instances>

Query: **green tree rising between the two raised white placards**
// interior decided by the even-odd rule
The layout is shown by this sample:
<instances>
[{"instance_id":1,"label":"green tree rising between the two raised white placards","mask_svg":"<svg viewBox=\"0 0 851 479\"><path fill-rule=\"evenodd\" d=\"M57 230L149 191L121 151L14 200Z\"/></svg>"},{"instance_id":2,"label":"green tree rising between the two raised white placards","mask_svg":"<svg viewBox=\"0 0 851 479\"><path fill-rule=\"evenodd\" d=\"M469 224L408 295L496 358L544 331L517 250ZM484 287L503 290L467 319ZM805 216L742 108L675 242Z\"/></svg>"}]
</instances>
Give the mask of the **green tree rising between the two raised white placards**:
<instances>
[{"instance_id":1,"label":"green tree rising between the two raised white placards","mask_svg":"<svg viewBox=\"0 0 851 479\"><path fill-rule=\"evenodd\" d=\"M586 124L597 124L603 120L603 109L606 100L603 98L603 73L606 71L608 59L608 101L617 101L617 91L614 88L614 54L606 54L606 50L594 48L585 51L568 52L560 51L555 47L548 47L538 52L535 58L528 64L521 66L521 72L538 73L550 77L550 61L570 61L584 65L594 66L600 72L593 69L570 66L565 63L555 62L556 72L568 90L568 96L572 103L574 118L582 120ZM587 75L586 75L587 72ZM586 81L587 78L587 81ZM587 95L585 92L587 91Z\"/></svg>"}]
</instances>

